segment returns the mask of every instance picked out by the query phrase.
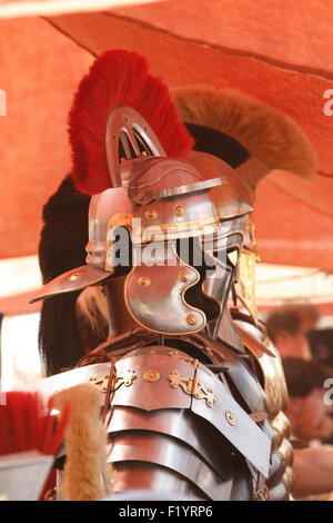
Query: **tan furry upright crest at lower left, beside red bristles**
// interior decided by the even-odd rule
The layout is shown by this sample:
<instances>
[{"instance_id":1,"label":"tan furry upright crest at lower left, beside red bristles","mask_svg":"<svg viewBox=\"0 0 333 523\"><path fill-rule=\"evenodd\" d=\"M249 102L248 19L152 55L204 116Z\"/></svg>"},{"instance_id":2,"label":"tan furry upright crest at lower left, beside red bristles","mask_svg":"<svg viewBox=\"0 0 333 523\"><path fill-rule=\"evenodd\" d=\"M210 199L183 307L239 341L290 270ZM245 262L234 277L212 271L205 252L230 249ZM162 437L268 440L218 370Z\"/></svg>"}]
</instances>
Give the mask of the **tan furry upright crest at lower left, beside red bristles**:
<instances>
[{"instance_id":1,"label":"tan furry upright crest at lower left, beside red bristles","mask_svg":"<svg viewBox=\"0 0 333 523\"><path fill-rule=\"evenodd\" d=\"M54 408L70 403L64 434L67 460L61 492L68 501L93 501L107 492L102 481L107 461L107 431L100 420L101 393L89 383L60 391Z\"/></svg>"}]
</instances>

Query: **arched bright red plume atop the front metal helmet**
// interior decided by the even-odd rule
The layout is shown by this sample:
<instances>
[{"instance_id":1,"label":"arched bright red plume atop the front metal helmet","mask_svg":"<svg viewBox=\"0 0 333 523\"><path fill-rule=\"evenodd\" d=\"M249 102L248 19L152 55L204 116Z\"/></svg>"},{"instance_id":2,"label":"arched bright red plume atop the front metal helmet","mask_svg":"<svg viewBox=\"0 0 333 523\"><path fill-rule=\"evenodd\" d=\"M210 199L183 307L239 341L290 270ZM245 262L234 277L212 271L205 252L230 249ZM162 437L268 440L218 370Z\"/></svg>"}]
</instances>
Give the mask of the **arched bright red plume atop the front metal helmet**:
<instances>
[{"instance_id":1,"label":"arched bright red plume atop the front metal helmet","mask_svg":"<svg viewBox=\"0 0 333 523\"><path fill-rule=\"evenodd\" d=\"M105 127L117 105L135 109L151 126L170 157L184 158L193 139L180 121L169 90L153 77L144 58L117 50L101 55L82 79L69 117L72 176L81 193L111 187L105 154Z\"/></svg>"}]
</instances>

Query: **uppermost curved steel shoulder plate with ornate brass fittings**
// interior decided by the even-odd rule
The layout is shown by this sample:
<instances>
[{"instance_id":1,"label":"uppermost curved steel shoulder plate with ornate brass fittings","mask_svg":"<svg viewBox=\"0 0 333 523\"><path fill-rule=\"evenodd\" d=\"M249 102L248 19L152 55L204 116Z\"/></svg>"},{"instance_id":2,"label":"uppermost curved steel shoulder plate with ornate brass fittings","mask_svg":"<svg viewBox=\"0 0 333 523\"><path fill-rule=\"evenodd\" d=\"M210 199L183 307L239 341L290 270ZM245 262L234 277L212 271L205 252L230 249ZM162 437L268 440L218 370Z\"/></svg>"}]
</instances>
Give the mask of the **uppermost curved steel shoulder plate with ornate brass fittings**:
<instances>
[{"instance_id":1,"label":"uppermost curved steel shoulder plate with ornate brass fittings","mask_svg":"<svg viewBox=\"0 0 333 523\"><path fill-rule=\"evenodd\" d=\"M211 423L256 470L268 476L270 438L206 367L152 353L123 358L115 367L117 376L135 377L130 386L115 389L113 406L144 411L189 408Z\"/></svg>"}]
</instances>

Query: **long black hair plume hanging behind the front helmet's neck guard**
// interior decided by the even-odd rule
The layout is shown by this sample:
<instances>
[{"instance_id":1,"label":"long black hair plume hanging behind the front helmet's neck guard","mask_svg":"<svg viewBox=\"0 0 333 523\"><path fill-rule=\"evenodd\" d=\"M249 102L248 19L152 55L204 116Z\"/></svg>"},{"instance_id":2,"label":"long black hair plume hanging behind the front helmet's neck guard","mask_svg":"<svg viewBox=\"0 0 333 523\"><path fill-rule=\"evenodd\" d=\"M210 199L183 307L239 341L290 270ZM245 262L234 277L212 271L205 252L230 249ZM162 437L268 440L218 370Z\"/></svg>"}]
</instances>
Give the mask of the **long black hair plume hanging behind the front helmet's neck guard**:
<instances>
[{"instance_id":1,"label":"long black hair plume hanging behind the front helmet's neck guard","mask_svg":"<svg viewBox=\"0 0 333 523\"><path fill-rule=\"evenodd\" d=\"M43 284L85 264L89 204L90 196L79 193L72 178L68 176L44 205L39 244ZM85 290L82 294L84 293ZM108 322L101 317L99 307L91 304L88 317L84 313L81 314L83 300L80 292L43 300L39 349L48 375L74 366L87 352L108 337ZM91 328L91 319L99 324L98 329Z\"/></svg>"}]
</instances>

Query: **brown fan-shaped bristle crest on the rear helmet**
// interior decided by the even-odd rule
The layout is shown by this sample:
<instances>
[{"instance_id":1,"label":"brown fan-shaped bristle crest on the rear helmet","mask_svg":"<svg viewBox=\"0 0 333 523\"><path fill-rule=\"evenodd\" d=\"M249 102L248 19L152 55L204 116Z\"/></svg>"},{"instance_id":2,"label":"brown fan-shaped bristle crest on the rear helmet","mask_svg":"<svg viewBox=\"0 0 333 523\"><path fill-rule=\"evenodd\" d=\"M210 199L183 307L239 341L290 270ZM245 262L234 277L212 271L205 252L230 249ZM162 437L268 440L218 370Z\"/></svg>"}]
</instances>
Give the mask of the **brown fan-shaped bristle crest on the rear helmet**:
<instances>
[{"instance_id":1,"label":"brown fan-shaped bristle crest on the rear helmet","mask_svg":"<svg viewBox=\"0 0 333 523\"><path fill-rule=\"evenodd\" d=\"M315 152L289 116L235 90L189 86L174 88L171 93L184 122L216 129L249 150L256 161L256 165L251 161L252 189L273 169L313 179L317 166ZM244 172L240 169L241 176Z\"/></svg>"}]
</instances>

